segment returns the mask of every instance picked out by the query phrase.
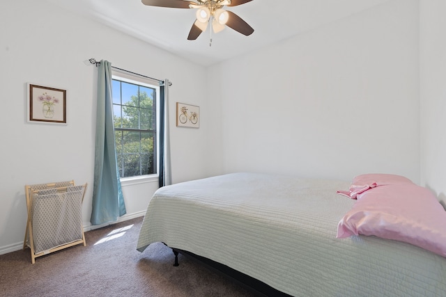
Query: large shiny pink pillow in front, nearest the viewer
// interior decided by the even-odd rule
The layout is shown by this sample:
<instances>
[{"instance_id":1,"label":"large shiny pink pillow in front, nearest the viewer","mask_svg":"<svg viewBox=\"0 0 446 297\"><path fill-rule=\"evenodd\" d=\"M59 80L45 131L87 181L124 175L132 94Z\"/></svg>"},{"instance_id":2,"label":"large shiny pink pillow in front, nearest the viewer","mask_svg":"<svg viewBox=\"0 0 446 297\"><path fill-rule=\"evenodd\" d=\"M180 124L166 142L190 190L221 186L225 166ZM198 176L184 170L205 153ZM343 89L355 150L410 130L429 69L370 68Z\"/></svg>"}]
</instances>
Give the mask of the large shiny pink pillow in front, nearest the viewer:
<instances>
[{"instance_id":1,"label":"large shiny pink pillow in front, nearest the viewer","mask_svg":"<svg viewBox=\"0 0 446 297\"><path fill-rule=\"evenodd\" d=\"M339 221L337 238L375 235L446 257L446 211L429 189L394 184L357 196L352 209Z\"/></svg>"}]
</instances>

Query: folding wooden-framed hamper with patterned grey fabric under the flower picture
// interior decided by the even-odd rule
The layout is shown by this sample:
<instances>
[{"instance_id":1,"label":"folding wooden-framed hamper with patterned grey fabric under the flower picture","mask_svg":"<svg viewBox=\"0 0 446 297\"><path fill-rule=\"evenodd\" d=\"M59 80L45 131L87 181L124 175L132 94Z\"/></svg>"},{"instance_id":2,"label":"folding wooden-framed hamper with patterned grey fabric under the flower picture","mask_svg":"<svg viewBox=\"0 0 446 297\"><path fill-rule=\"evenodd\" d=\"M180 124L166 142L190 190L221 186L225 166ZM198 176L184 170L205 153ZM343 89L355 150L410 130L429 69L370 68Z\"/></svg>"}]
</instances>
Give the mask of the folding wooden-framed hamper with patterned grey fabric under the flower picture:
<instances>
[{"instance_id":1,"label":"folding wooden-framed hamper with patterned grey fabric under the flower picture","mask_svg":"<svg viewBox=\"0 0 446 297\"><path fill-rule=\"evenodd\" d=\"M25 186L28 220L23 249L31 249L31 263L56 250L85 242L82 201L87 184L74 181Z\"/></svg>"}]
</instances>

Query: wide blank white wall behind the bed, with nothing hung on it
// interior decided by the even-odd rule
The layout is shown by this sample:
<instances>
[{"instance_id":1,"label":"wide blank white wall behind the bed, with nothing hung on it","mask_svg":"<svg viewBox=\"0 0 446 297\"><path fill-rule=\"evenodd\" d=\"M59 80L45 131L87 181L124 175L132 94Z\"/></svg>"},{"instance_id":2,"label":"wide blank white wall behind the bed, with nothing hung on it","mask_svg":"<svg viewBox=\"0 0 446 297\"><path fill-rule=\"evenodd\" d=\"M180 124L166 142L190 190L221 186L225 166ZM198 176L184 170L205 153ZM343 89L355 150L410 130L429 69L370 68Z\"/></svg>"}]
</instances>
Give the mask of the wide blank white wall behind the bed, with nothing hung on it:
<instances>
[{"instance_id":1,"label":"wide blank white wall behind the bed, with nothing hung on it","mask_svg":"<svg viewBox=\"0 0 446 297\"><path fill-rule=\"evenodd\" d=\"M420 182L418 60L418 1L394 0L210 67L215 168Z\"/></svg>"}]
</instances>

